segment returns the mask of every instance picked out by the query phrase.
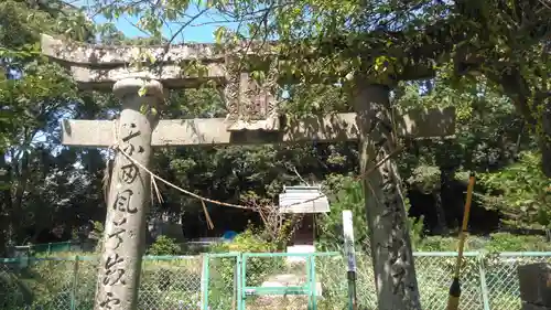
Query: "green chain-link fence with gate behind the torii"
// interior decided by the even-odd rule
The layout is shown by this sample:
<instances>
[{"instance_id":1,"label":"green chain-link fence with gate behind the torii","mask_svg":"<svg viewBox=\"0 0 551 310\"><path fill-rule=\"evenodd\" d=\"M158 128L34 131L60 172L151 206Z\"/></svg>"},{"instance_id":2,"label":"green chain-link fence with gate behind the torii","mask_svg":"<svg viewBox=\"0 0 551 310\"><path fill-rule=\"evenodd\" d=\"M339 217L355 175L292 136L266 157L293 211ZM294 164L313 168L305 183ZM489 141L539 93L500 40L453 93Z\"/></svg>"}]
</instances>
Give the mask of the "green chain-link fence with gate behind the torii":
<instances>
[{"instance_id":1,"label":"green chain-link fence with gate behind the torii","mask_svg":"<svg viewBox=\"0 0 551 310\"><path fill-rule=\"evenodd\" d=\"M417 253L415 266L423 309L445 309L455 253ZM304 281L303 265L289 265L284 257L247 259L241 275L240 254L155 256L143 260L140 310L237 310L242 277L247 286L281 280L282 275ZM347 309L346 263L337 253L315 255L315 280L320 310ZM462 310L520 309L517 266L551 263L551 253L466 253L462 274ZM369 257L357 257L359 309L375 310L376 293ZM302 268L302 269L301 269ZM0 259L0 309L91 310L96 288L96 259ZM305 299L295 297L284 306L268 297L245 301L247 310L292 309ZM208 304L206 304L208 303ZM304 303L305 304L305 303ZM291 307L291 308L289 308ZM305 309L305 306L304 306Z\"/></svg>"}]
</instances>

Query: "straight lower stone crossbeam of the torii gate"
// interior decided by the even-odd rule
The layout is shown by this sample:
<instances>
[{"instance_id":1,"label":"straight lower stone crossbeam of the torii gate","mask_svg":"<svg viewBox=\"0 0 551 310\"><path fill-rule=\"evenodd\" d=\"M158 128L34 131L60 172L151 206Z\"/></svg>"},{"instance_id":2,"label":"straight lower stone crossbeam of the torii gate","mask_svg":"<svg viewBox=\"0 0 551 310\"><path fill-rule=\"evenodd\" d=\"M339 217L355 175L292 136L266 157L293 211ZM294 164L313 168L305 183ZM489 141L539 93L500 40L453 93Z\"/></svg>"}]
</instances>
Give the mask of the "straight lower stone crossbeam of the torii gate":
<instances>
[{"instance_id":1,"label":"straight lower stone crossbeam of the torii gate","mask_svg":"<svg viewBox=\"0 0 551 310\"><path fill-rule=\"evenodd\" d=\"M429 126L429 124L432 125ZM261 145L292 142L331 142L357 140L356 114L336 114L287 120L279 132L230 132L225 118L161 120L152 133L153 147L208 146L208 145ZM62 121L65 146L109 147L114 145L114 121L67 120ZM397 132L417 138L446 137L455 133L453 108L414 111L403 116Z\"/></svg>"}]
</instances>

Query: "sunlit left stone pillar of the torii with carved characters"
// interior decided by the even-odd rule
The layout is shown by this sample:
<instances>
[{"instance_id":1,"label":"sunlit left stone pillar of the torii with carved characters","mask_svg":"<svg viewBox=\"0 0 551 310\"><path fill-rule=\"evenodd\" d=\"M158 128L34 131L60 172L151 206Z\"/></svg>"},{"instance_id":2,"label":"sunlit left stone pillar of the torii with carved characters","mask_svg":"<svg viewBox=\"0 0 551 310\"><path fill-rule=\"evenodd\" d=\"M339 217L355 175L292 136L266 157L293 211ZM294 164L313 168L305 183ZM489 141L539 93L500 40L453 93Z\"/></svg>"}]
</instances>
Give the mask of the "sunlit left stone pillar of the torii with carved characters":
<instances>
[{"instance_id":1,"label":"sunlit left stone pillar of the torii with carved characters","mask_svg":"<svg viewBox=\"0 0 551 310\"><path fill-rule=\"evenodd\" d=\"M147 92L141 96L142 86ZM149 167L151 132L156 126L158 114L148 107L163 100L162 85L158 81L126 78L115 84L114 94L122 104L114 140L119 150ZM137 309L150 186L149 173L118 151L111 172L96 310Z\"/></svg>"}]
</instances>

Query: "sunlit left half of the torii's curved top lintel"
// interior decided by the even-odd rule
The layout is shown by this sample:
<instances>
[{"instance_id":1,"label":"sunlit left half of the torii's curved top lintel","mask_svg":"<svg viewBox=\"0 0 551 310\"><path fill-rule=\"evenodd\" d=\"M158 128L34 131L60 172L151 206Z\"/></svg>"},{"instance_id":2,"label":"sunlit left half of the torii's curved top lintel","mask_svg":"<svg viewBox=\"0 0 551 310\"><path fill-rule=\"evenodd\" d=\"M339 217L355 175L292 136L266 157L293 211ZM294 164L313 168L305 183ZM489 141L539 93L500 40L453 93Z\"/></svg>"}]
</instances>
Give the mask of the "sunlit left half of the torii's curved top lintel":
<instances>
[{"instance_id":1,"label":"sunlit left half of the torii's curved top lintel","mask_svg":"<svg viewBox=\"0 0 551 310\"><path fill-rule=\"evenodd\" d=\"M206 79L220 84L230 79L228 65L236 55L255 55L256 49L226 50L214 43L194 43L155 46L95 45L61 40L47 34L41 36L42 54L71 68L82 89L108 90L127 76L154 78L168 88L195 88ZM269 49L264 49L269 53ZM149 68L130 65L132 62L154 60ZM204 73L186 72L186 63L199 61Z\"/></svg>"}]
</instances>

